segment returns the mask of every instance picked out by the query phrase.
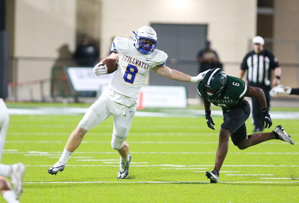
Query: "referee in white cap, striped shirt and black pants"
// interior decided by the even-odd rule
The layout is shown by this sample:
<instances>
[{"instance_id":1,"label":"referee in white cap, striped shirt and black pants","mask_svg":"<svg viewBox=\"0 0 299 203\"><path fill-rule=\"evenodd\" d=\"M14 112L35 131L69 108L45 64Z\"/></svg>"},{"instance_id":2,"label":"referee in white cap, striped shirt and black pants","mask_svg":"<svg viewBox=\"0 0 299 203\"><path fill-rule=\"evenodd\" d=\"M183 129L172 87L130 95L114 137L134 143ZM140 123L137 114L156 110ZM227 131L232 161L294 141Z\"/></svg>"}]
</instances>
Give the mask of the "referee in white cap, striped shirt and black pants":
<instances>
[{"instance_id":1,"label":"referee in white cap, striped shirt and black pants","mask_svg":"<svg viewBox=\"0 0 299 203\"><path fill-rule=\"evenodd\" d=\"M279 67L277 58L272 52L264 49L263 37L256 36L252 39L253 51L246 54L241 64L238 77L243 78L245 71L247 70L248 86L259 87L265 93L267 108L270 107L270 95L271 90L271 71L274 70L274 78L272 86L277 86L280 83L281 68ZM262 109L259 105L258 99L252 97L252 115L253 115L253 132L263 131L264 124L261 120Z\"/></svg>"}]
</instances>

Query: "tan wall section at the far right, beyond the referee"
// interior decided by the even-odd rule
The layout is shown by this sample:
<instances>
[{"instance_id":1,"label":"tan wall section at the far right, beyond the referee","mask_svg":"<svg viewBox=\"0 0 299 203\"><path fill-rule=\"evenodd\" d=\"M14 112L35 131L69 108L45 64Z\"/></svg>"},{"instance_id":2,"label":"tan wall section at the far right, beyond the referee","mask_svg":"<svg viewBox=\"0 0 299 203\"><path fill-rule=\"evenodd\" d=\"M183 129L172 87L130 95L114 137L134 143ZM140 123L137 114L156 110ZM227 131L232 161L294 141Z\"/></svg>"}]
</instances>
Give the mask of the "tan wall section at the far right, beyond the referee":
<instances>
[{"instance_id":1,"label":"tan wall section at the far right, beyond the referee","mask_svg":"<svg viewBox=\"0 0 299 203\"><path fill-rule=\"evenodd\" d=\"M273 52L281 64L299 63L299 2L274 1ZM298 65L282 67L282 84L299 87Z\"/></svg>"}]
</instances>

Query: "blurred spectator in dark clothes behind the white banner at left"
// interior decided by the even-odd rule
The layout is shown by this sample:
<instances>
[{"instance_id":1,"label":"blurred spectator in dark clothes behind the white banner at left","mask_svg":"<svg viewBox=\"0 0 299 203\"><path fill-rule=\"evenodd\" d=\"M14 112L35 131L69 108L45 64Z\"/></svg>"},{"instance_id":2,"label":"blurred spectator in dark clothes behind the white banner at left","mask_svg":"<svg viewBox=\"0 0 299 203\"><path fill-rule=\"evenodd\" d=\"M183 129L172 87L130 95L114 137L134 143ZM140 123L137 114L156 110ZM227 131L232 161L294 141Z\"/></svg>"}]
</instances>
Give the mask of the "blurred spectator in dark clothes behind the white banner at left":
<instances>
[{"instance_id":1,"label":"blurred spectator in dark clothes behind the white banner at left","mask_svg":"<svg viewBox=\"0 0 299 203\"><path fill-rule=\"evenodd\" d=\"M84 35L76 48L74 59L79 66L94 67L99 60L99 50L89 42L89 37Z\"/></svg>"}]
</instances>

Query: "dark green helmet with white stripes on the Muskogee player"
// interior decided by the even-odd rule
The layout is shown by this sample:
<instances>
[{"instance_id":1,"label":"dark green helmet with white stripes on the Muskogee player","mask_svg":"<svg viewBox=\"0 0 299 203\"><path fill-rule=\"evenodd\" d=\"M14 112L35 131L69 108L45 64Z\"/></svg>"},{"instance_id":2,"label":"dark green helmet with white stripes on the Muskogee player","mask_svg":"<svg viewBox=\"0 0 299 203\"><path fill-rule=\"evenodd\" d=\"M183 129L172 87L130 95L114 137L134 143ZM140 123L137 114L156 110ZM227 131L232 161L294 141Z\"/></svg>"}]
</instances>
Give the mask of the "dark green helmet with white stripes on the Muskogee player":
<instances>
[{"instance_id":1,"label":"dark green helmet with white stripes on the Muskogee player","mask_svg":"<svg viewBox=\"0 0 299 203\"><path fill-rule=\"evenodd\" d=\"M226 73L220 68L213 68L205 74L202 87L207 99L216 99L224 91L227 78Z\"/></svg>"}]
</instances>

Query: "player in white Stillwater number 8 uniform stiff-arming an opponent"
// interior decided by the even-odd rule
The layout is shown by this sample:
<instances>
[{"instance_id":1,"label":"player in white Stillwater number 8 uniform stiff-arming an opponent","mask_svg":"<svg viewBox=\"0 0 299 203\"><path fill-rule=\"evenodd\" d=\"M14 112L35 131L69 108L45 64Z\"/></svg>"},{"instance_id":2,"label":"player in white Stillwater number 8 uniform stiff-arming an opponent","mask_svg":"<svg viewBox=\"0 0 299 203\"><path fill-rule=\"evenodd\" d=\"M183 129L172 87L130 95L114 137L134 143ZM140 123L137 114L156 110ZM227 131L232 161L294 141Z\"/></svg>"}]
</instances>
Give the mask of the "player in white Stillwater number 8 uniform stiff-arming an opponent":
<instances>
[{"instance_id":1,"label":"player in white Stillwater number 8 uniform stiff-arming an opponent","mask_svg":"<svg viewBox=\"0 0 299 203\"><path fill-rule=\"evenodd\" d=\"M101 97L89 107L78 127L71 133L59 161L49 168L48 173L56 175L58 171L63 171L68 158L80 145L85 133L113 115L111 146L120 154L117 178L124 179L128 176L131 161L129 145L125 139L136 112L140 89L149 71L153 70L158 75L177 81L198 83L202 80L202 73L191 77L165 66L167 54L156 49L157 34L152 27L143 26L133 33L134 41L123 37L113 40L113 53L102 61L108 58L117 60L116 75ZM102 61L94 67L97 76L107 73Z\"/></svg>"}]
</instances>

